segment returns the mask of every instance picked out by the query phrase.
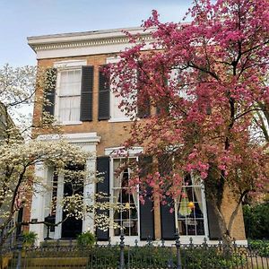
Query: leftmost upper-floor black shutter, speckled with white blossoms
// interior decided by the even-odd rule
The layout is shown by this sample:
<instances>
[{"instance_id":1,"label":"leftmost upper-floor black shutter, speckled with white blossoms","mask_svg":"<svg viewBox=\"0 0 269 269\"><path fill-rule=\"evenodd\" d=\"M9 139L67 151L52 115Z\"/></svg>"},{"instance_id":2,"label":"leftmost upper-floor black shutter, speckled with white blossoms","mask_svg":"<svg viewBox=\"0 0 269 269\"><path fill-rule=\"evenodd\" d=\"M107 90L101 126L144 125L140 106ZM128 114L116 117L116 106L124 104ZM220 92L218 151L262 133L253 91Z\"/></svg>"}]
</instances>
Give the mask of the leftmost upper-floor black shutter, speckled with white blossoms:
<instances>
[{"instance_id":1,"label":"leftmost upper-floor black shutter, speckled with white blossoms","mask_svg":"<svg viewBox=\"0 0 269 269\"><path fill-rule=\"evenodd\" d=\"M56 95L56 68L48 68L45 73L43 112L54 116Z\"/></svg>"}]
</instances>

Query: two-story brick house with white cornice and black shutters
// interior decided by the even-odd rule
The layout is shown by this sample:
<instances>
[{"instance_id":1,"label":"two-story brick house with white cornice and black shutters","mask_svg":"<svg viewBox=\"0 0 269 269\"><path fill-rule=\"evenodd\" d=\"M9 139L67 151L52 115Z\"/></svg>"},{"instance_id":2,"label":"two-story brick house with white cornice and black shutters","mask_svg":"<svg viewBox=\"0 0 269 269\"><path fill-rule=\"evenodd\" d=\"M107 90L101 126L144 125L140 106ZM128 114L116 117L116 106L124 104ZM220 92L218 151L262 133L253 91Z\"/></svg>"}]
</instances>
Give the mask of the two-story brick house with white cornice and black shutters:
<instances>
[{"instance_id":1,"label":"two-story brick house with white cornice and black shutters","mask_svg":"<svg viewBox=\"0 0 269 269\"><path fill-rule=\"evenodd\" d=\"M140 28L128 31L140 32L147 42L151 40L150 35ZM87 195L101 191L114 196L121 204L131 204L132 209L127 213L109 213L111 219L125 227L129 243L134 243L135 239L143 241L149 236L152 239L173 240L176 229L183 242L190 237L195 242L202 241L204 237L210 240L220 238L218 223L211 205L206 201L204 187L195 178L186 179L186 186L183 187L185 198L182 197L175 203L175 213L169 213L168 205L160 205L149 199L141 204L138 193L126 192L124 182L128 180L129 169L118 177L115 174L121 160L114 152L127 138L130 119L118 108L120 100L109 91L100 66L114 63L117 61L117 53L130 46L126 35L121 30L97 30L30 37L28 42L37 54L39 67L56 71L56 81L48 95L53 105L42 108L37 104L34 108L34 121L39 121L43 109L54 115L70 143L77 144L88 152L96 152L96 158L87 161L86 169L92 173L96 170L104 173L103 183L84 185L85 200ZM37 96L42 97L43 93L39 89ZM38 139L57 139L57 136L44 134ZM129 158L138 158L139 152L143 152L142 147L134 148L128 152ZM65 192L65 184L60 176L54 178L50 168L39 164L36 169L38 176L57 186L55 194L40 192L32 197L30 219L43 221L50 214L52 196L56 195L56 201L60 201ZM228 220L234 202L229 190L225 190L224 195L222 206ZM189 206L190 202L195 204L195 213ZM57 202L56 221L61 221L63 217L60 202ZM55 230L51 230L49 236L53 239L75 238L82 231L92 230L92 227L93 222L88 217L82 221L67 219ZM39 241L46 237L44 225L32 225L30 230L38 233ZM232 237L245 240L241 210L234 222ZM97 238L110 238L112 242L117 242L119 230L97 230Z\"/></svg>"}]
</instances>

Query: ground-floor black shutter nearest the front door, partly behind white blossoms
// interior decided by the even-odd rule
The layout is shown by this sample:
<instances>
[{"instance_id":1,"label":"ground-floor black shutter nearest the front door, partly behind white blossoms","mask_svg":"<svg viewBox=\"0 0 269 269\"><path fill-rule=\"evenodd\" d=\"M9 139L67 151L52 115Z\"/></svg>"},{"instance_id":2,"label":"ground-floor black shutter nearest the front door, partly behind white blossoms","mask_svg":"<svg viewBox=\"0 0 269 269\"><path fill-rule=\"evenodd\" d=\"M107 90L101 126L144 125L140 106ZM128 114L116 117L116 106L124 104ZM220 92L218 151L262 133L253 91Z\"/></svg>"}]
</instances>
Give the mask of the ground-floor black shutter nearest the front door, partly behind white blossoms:
<instances>
[{"instance_id":1,"label":"ground-floor black shutter nearest the front door, partly behind white blossoms","mask_svg":"<svg viewBox=\"0 0 269 269\"><path fill-rule=\"evenodd\" d=\"M97 170L98 172L102 173L101 177L103 178L102 181L98 182L96 185L96 193L103 193L109 195L109 157L98 157L97 158ZM101 202L101 201L100 201ZM109 210L97 210L97 214L105 213L109 215ZM109 230L100 230L96 229L96 238L98 240L108 240L109 237Z\"/></svg>"}]
</instances>

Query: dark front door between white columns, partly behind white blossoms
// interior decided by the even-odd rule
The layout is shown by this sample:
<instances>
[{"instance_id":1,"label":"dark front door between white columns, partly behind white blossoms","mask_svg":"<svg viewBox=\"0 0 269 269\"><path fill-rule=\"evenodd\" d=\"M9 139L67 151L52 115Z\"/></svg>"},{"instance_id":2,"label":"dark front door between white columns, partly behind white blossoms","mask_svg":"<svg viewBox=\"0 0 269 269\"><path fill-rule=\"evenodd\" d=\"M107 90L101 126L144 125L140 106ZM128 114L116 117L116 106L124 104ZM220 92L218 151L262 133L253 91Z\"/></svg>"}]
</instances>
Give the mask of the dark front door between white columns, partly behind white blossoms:
<instances>
[{"instance_id":1,"label":"dark front door between white columns, partly behind white blossoms","mask_svg":"<svg viewBox=\"0 0 269 269\"><path fill-rule=\"evenodd\" d=\"M75 168L77 169L77 168ZM71 195L83 195L83 182L82 180L74 180L72 182L64 183L64 196ZM76 239L78 235L82 233L82 220L77 220L74 216L69 216L66 218L68 213L63 210L63 220L62 223L62 239Z\"/></svg>"}]
</instances>

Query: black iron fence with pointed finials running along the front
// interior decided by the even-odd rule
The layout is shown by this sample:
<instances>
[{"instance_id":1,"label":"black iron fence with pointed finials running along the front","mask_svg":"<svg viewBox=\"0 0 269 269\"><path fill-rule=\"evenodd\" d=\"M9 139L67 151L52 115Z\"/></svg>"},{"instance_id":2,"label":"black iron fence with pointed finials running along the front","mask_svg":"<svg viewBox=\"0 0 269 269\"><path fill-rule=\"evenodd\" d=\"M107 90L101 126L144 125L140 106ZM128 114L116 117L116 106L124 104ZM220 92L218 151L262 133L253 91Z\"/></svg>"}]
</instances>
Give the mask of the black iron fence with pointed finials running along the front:
<instances>
[{"instance_id":1,"label":"black iron fence with pointed finials running along the front","mask_svg":"<svg viewBox=\"0 0 269 269\"><path fill-rule=\"evenodd\" d=\"M170 241L169 241L170 242ZM145 269L145 268L177 268L177 269L269 269L267 252L261 252L247 246L239 246L235 242L225 245L221 241L217 245L182 244L178 237L172 244L148 239L144 246L126 245L121 235L118 244L95 244L91 247L77 246L75 241L48 241L39 247L8 247L2 253L8 263L6 268L88 268L88 269Z\"/></svg>"}]
</instances>

